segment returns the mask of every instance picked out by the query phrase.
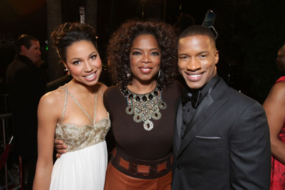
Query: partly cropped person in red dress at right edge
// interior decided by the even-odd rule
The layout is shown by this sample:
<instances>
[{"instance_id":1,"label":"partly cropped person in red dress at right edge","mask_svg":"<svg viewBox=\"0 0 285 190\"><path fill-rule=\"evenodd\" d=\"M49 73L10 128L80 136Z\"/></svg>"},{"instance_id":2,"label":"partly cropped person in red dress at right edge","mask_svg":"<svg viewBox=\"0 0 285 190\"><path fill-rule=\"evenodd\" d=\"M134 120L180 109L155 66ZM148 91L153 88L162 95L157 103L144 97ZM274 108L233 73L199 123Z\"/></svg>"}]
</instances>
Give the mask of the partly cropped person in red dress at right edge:
<instances>
[{"instance_id":1,"label":"partly cropped person in red dress at right edge","mask_svg":"<svg viewBox=\"0 0 285 190\"><path fill-rule=\"evenodd\" d=\"M285 74L285 45L279 49L276 65ZM271 140L270 189L285 189L285 76L271 88L264 101Z\"/></svg>"}]
</instances>

